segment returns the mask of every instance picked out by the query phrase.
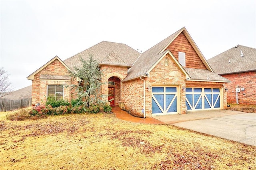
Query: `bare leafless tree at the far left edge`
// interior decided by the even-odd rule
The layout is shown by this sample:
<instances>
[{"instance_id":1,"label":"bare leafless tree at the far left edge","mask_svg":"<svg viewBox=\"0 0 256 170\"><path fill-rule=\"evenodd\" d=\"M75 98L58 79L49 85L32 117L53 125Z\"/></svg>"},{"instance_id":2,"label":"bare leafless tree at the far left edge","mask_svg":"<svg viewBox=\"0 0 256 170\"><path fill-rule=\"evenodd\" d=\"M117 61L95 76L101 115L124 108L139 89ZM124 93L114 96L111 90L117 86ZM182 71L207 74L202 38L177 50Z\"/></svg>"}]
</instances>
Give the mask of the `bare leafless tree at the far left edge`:
<instances>
[{"instance_id":1,"label":"bare leafless tree at the far left edge","mask_svg":"<svg viewBox=\"0 0 256 170\"><path fill-rule=\"evenodd\" d=\"M11 83L8 82L8 77L9 75L4 68L0 67L0 98L12 92Z\"/></svg>"}]
</instances>

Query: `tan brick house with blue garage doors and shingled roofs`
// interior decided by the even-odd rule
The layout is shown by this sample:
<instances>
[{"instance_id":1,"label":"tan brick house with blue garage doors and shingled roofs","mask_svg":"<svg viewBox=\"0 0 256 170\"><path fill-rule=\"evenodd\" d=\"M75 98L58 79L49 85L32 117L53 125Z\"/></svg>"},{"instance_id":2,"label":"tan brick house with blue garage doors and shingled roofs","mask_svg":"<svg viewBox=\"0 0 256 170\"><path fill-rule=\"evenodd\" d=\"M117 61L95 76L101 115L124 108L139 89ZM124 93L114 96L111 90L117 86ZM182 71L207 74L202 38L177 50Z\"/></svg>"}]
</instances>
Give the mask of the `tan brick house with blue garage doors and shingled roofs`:
<instances>
[{"instance_id":1,"label":"tan brick house with blue garage doors and shingled roofs","mask_svg":"<svg viewBox=\"0 0 256 170\"><path fill-rule=\"evenodd\" d=\"M80 66L89 53L103 71L103 95L110 105L138 117L184 114L188 111L224 109L228 79L212 68L182 28L144 53L122 43L100 42L64 61L54 57L27 78L32 80L32 105L54 95L70 101L74 91L63 84L78 84L69 70ZM44 97L45 96L45 97Z\"/></svg>"}]
</instances>

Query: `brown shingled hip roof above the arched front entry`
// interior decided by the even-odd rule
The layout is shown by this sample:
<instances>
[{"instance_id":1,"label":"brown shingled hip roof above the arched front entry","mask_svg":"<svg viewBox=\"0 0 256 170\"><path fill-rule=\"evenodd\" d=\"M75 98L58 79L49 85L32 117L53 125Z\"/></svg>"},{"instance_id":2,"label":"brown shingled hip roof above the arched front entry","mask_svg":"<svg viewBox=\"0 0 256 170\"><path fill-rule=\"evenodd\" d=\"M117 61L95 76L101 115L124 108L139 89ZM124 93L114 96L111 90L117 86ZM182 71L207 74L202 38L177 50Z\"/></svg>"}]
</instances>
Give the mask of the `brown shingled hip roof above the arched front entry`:
<instances>
[{"instance_id":1,"label":"brown shingled hip roof above the arched front entry","mask_svg":"<svg viewBox=\"0 0 256 170\"><path fill-rule=\"evenodd\" d=\"M136 59L139 57L140 53L135 49L132 49L126 44L123 43L114 43L102 41L68 59L64 60L64 63L68 65L71 69L74 67L80 67L80 57L84 60L87 60L89 55L93 55L93 58L98 61L98 63L106 63L108 65L127 65L131 67ZM118 59L118 61L110 62L111 58Z\"/></svg>"}]
</instances>

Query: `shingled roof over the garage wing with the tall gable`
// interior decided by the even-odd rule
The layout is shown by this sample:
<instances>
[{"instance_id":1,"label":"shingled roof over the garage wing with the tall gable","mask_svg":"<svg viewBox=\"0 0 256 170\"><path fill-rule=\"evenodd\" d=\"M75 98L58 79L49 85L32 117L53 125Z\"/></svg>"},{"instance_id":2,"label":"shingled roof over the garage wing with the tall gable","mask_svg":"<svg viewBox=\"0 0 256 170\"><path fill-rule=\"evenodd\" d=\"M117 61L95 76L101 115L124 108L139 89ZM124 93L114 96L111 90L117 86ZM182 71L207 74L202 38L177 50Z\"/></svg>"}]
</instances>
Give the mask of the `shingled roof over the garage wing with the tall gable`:
<instances>
[{"instance_id":1,"label":"shingled roof over the garage wing with the tall gable","mask_svg":"<svg viewBox=\"0 0 256 170\"><path fill-rule=\"evenodd\" d=\"M136 79L138 77L144 76L146 73L149 73L150 70L152 69L152 67L154 67L154 65L156 63L158 63L164 55L166 55L166 51L167 51L166 47L183 31L188 35L188 39L190 39L190 41L192 43L194 43L194 41L192 40L192 38L186 31L186 28L185 27L181 28L180 30L178 30L174 34L172 34L171 36L167 37L166 39L162 40L158 44L154 45L153 47L151 47L150 49L148 49L147 51L142 53L140 55L140 57L137 59L137 61L134 63L133 67L130 68L130 70L128 72L128 76L123 81L129 81L132 79ZM195 50L197 50L200 53L196 44L194 43L193 45L195 48L197 48ZM171 53L171 52L169 51L169 53ZM174 59L174 62L177 62L177 65L178 65L178 67L180 67L182 72L184 72L184 74L187 75L186 76L187 80L229 82L228 79L225 79L224 77L213 73L212 69L206 62L206 59L203 57L203 55L201 53L200 53L200 55L203 58L202 60L204 60L203 62L206 63L206 67L208 68L208 70L190 69L190 68L186 68L186 67L183 68L178 63L178 61L176 61L176 59ZM173 56L173 55L171 54L171 56Z\"/></svg>"}]
</instances>

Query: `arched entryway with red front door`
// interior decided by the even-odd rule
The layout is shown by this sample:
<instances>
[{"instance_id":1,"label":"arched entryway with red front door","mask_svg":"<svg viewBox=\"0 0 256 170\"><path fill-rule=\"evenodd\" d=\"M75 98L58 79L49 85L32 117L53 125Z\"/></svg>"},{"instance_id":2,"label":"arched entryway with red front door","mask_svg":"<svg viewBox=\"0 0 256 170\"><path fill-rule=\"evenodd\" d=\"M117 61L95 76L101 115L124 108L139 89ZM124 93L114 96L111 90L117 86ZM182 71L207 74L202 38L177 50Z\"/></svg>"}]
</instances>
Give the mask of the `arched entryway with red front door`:
<instances>
[{"instance_id":1,"label":"arched entryway with red front door","mask_svg":"<svg viewBox=\"0 0 256 170\"><path fill-rule=\"evenodd\" d=\"M108 79L108 100L111 106L118 105L121 99L121 80L118 77L110 77Z\"/></svg>"}]
</instances>

